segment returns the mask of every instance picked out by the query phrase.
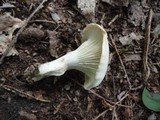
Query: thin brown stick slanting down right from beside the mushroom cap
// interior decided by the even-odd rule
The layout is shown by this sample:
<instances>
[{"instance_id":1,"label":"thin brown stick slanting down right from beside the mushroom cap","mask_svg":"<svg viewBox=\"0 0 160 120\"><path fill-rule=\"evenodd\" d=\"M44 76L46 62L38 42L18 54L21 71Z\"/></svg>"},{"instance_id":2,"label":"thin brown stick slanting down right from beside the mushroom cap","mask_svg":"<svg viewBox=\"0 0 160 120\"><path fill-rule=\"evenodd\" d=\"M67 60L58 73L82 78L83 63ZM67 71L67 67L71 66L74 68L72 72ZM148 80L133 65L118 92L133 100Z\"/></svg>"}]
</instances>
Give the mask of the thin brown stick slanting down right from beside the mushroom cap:
<instances>
[{"instance_id":1,"label":"thin brown stick slanting down right from beside the mushroom cap","mask_svg":"<svg viewBox=\"0 0 160 120\"><path fill-rule=\"evenodd\" d=\"M125 77L126 77L126 79L127 79L128 85L129 85L129 89L131 89L131 83L130 83L130 80L129 80L129 77L128 77L126 68L125 68L125 66L124 66L124 64L123 64L123 61L122 61L122 59L121 59L121 56L120 56L120 54L119 54L119 52L118 52L118 50L117 50L116 44L114 43L114 40L113 40L111 34L109 34L109 37L110 37L111 42L112 42L112 44L113 44L113 46L114 46L114 49L116 50L116 53L117 53L118 58L119 58L119 61L120 61L121 65L122 65L123 71L124 71L124 73L125 73Z\"/></svg>"}]
</instances>

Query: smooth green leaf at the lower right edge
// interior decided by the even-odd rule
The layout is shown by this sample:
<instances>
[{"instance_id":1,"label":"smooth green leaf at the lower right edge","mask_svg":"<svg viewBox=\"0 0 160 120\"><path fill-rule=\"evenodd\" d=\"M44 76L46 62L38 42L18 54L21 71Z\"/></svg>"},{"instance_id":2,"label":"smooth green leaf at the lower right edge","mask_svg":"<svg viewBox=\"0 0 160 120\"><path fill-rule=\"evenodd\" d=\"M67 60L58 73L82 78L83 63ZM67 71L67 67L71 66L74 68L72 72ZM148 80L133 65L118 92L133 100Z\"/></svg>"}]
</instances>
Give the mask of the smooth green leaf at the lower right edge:
<instances>
[{"instance_id":1,"label":"smooth green leaf at the lower right edge","mask_svg":"<svg viewBox=\"0 0 160 120\"><path fill-rule=\"evenodd\" d=\"M160 92L149 92L146 88L143 89L142 100L144 105L153 111L160 111Z\"/></svg>"}]
</instances>

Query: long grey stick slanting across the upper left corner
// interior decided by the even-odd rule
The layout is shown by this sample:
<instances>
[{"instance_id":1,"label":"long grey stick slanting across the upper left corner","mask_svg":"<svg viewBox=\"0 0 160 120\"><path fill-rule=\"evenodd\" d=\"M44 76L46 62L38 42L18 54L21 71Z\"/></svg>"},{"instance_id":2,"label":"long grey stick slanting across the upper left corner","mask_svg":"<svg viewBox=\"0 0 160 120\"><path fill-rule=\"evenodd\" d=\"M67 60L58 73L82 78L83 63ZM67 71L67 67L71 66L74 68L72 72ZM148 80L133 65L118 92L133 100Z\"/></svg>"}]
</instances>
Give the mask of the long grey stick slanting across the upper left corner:
<instances>
[{"instance_id":1,"label":"long grey stick slanting across the upper left corner","mask_svg":"<svg viewBox=\"0 0 160 120\"><path fill-rule=\"evenodd\" d=\"M25 29L25 27L27 26L28 22L30 21L30 19L34 16L34 14L36 12L38 12L42 7L43 4L45 2L47 2L48 0L43 0L39 6L33 11L33 13L28 17L28 19L24 22L24 25L21 27L21 29L19 29L19 31L17 32L17 34L15 35L15 37L13 38L13 40L11 41L11 43L9 44L8 48L5 50L4 54L1 56L0 58L0 64L2 64L3 59L6 57L6 55L10 52L10 50L12 49L12 47L14 46L14 44L17 42L17 38L18 36L21 34L21 32Z\"/></svg>"}]
</instances>

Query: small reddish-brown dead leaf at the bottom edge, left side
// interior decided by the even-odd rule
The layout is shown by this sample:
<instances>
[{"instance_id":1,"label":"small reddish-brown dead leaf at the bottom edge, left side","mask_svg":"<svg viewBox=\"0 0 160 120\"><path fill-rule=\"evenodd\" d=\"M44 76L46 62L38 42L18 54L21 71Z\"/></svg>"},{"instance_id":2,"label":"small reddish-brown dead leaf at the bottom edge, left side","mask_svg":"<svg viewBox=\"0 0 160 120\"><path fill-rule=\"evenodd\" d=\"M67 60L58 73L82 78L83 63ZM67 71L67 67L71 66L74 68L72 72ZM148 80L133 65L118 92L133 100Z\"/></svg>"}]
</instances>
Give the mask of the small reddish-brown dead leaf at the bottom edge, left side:
<instances>
[{"instance_id":1,"label":"small reddish-brown dead leaf at the bottom edge, left side","mask_svg":"<svg viewBox=\"0 0 160 120\"><path fill-rule=\"evenodd\" d=\"M37 117L35 114L32 113L28 113L26 111L19 111L19 115L20 117L22 117L22 119L26 119L26 120L37 120Z\"/></svg>"}]
</instances>

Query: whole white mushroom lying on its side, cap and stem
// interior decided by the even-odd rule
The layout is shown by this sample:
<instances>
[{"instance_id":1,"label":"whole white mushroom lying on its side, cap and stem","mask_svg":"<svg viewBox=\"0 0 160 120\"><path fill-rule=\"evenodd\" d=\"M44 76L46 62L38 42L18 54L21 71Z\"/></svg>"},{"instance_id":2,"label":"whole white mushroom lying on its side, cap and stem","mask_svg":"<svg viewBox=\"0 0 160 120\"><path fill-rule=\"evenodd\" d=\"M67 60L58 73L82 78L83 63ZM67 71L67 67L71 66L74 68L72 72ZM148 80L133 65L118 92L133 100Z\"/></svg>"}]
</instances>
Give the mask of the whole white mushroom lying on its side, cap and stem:
<instances>
[{"instance_id":1,"label":"whole white mushroom lying on its side, cap and stem","mask_svg":"<svg viewBox=\"0 0 160 120\"><path fill-rule=\"evenodd\" d=\"M85 74L84 88L98 86L105 77L109 61L108 36L104 28L91 23L82 31L82 44L66 55L38 66L32 80L44 76L60 76L68 69L76 69Z\"/></svg>"}]
</instances>

